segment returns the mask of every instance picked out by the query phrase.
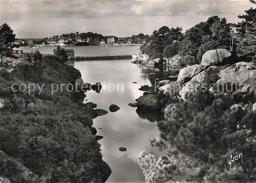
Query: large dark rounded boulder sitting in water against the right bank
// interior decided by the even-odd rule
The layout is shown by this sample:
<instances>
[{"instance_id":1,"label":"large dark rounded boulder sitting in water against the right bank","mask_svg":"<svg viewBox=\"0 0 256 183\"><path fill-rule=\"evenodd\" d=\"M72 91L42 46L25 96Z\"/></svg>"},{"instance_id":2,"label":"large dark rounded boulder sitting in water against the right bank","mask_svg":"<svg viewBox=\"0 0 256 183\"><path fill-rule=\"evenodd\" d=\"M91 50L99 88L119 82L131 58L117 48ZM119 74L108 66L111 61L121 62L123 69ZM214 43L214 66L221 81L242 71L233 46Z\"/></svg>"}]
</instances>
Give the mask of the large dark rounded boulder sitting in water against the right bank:
<instances>
[{"instance_id":1,"label":"large dark rounded boulder sitting in water against the right bank","mask_svg":"<svg viewBox=\"0 0 256 183\"><path fill-rule=\"evenodd\" d=\"M137 100L137 107L140 109L160 110L162 108L160 100L156 95L143 95Z\"/></svg>"}]
</instances>

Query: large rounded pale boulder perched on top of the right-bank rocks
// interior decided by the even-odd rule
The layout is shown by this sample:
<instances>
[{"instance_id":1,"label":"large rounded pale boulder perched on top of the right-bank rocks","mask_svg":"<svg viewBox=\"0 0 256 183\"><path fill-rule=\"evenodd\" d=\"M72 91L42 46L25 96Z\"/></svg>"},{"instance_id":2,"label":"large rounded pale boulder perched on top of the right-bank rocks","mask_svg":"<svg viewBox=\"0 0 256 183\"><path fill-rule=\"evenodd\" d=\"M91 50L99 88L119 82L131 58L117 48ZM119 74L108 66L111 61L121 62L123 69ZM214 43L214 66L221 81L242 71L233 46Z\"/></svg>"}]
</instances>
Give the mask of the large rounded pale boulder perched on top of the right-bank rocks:
<instances>
[{"instance_id":1,"label":"large rounded pale boulder perched on top of the right-bank rocks","mask_svg":"<svg viewBox=\"0 0 256 183\"><path fill-rule=\"evenodd\" d=\"M236 63L238 57L226 49L209 50L204 53L201 61L201 65L218 65Z\"/></svg>"}]
</instances>

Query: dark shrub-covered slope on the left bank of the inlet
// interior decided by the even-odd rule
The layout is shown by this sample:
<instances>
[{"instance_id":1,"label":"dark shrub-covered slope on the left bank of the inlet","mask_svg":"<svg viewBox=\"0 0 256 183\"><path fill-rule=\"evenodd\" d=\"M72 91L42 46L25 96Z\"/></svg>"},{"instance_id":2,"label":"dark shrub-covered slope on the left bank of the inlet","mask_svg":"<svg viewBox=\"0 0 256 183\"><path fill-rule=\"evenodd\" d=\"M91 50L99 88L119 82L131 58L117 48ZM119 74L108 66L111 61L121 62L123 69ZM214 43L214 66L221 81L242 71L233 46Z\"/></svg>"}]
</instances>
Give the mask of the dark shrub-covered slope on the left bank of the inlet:
<instances>
[{"instance_id":1,"label":"dark shrub-covered slope on the left bank of the inlet","mask_svg":"<svg viewBox=\"0 0 256 183\"><path fill-rule=\"evenodd\" d=\"M88 182L99 169L100 145L92 135L90 109L79 105L74 92L51 95L51 83L73 83L80 72L69 65L57 63L53 56L43 57L38 68L17 66L9 74L0 71L0 150L20 159L34 174L51 182ZM12 83L45 84L38 90L13 93ZM32 108L21 108L21 98ZM53 103L53 102L54 103ZM2 106L3 106L2 105ZM1 158L0 158L1 159ZM5 166L5 167L3 167ZM15 166L0 161L0 175L12 182L27 182Z\"/></svg>"}]
</instances>

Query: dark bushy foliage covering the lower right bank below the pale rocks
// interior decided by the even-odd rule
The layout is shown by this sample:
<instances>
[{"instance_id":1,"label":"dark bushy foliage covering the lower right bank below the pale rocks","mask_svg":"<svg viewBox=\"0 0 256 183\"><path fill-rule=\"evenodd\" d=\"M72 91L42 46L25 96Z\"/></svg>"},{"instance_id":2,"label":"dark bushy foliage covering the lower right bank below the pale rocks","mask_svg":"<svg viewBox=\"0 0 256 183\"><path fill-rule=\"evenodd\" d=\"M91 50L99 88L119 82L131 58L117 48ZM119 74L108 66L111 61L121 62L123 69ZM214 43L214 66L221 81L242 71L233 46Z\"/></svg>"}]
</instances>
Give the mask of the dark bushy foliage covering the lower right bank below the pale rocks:
<instances>
[{"instance_id":1,"label":"dark bushy foliage covering the lower right bank below the pale rocks","mask_svg":"<svg viewBox=\"0 0 256 183\"><path fill-rule=\"evenodd\" d=\"M207 165L201 178L210 175L211 179L219 180L255 178L256 144L250 140L256 136L254 92L247 89L212 96L198 88L187 99L166 108L166 121L158 123L161 138L169 147L176 147L180 153ZM239 153L246 159L232 164L234 169L226 174L230 154ZM235 175L239 166L241 175L229 176ZM219 172L212 173L212 169Z\"/></svg>"}]
</instances>

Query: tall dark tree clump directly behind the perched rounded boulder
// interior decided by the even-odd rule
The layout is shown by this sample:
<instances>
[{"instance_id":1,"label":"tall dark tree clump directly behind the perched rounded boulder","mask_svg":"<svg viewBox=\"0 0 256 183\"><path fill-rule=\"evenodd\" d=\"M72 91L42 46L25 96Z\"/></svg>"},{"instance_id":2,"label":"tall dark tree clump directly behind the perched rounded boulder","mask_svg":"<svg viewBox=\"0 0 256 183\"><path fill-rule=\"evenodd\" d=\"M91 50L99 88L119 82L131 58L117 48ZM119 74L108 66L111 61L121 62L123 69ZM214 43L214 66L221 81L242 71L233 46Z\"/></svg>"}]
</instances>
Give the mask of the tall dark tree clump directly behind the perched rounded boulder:
<instances>
[{"instance_id":1,"label":"tall dark tree clump directly behind the perched rounded boulder","mask_svg":"<svg viewBox=\"0 0 256 183\"><path fill-rule=\"evenodd\" d=\"M181 55L191 55L201 61L202 55L212 49L229 48L230 28L225 18L209 17L185 32Z\"/></svg>"}]
</instances>

